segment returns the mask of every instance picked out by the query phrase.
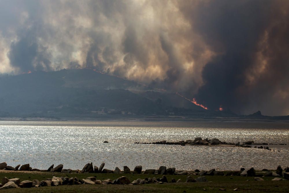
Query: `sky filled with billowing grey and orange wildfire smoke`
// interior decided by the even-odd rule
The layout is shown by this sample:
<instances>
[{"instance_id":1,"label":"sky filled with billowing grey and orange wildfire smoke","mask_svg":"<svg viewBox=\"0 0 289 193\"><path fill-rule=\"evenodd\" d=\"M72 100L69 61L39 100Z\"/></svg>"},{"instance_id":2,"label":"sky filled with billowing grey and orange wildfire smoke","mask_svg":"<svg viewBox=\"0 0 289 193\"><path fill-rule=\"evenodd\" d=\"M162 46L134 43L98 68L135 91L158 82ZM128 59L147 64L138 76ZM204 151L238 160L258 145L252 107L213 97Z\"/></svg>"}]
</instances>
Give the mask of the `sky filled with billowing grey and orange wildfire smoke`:
<instances>
[{"instance_id":1,"label":"sky filled with billowing grey and orange wildfire smoke","mask_svg":"<svg viewBox=\"0 0 289 193\"><path fill-rule=\"evenodd\" d=\"M289 115L289 1L0 0L0 73L91 68Z\"/></svg>"}]
</instances>

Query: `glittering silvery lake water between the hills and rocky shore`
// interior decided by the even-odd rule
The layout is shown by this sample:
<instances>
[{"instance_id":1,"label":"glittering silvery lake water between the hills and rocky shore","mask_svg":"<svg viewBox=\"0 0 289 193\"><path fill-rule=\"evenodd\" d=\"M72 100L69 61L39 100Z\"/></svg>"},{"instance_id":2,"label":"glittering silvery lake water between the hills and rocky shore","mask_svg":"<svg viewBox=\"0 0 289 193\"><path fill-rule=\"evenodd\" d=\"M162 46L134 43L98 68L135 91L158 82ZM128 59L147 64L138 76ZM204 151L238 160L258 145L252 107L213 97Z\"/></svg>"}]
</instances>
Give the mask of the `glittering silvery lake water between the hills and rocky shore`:
<instances>
[{"instance_id":1,"label":"glittering silvery lake water between the hills and rocky shore","mask_svg":"<svg viewBox=\"0 0 289 193\"><path fill-rule=\"evenodd\" d=\"M159 166L177 170L275 169L289 166L288 145L269 151L257 148L134 144L202 137L227 142L289 144L288 123L248 122L21 122L0 121L0 162L15 167L30 163L47 169L82 169L92 162L113 170L116 166ZM109 143L103 143L103 141ZM270 145L268 145L270 147ZM279 152L278 152L279 150Z\"/></svg>"}]
</instances>

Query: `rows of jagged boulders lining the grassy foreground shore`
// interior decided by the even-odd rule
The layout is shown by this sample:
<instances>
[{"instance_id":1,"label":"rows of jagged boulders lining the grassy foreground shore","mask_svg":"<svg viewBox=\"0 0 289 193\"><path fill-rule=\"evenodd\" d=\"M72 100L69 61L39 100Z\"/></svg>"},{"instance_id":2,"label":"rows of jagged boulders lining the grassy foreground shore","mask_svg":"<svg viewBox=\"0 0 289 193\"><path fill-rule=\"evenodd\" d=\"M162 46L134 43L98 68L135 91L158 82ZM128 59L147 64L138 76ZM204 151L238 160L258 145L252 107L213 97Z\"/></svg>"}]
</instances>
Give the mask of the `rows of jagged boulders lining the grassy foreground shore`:
<instances>
[{"instance_id":1,"label":"rows of jagged boulders lining the grassy foreground shore","mask_svg":"<svg viewBox=\"0 0 289 193\"><path fill-rule=\"evenodd\" d=\"M73 170L71 169L63 169L63 165L60 164L53 168L54 165L50 166L47 170L38 170L32 169L29 164L16 166L13 168L12 166L7 166L7 163L0 163L0 170L18 170L20 167L20 171L41 171L41 172L67 172L71 173ZM134 181L130 181L126 176L121 176L115 180L106 179L99 180L96 177L88 177L86 179L78 179L77 177L56 177L53 176L52 179L46 179L39 181L34 179L20 181L19 178L8 179L4 177L2 179L2 184L0 183L1 189L8 188L31 188L31 187L42 187L42 186L58 186L58 185L80 185L80 184L130 184L130 185L139 185L139 184L149 184L149 183L180 183L181 179L172 178L171 181L168 181L165 175L187 175L186 182L207 182L208 180L205 176L245 176L245 177L254 177L255 181L262 181L261 177L275 177L272 179L275 180L289 180L289 168L286 167L284 170L281 166L277 167L276 171L269 171L267 169L263 169L262 172L256 172L254 168L250 168L249 170L245 170L245 168L241 168L240 171L217 171L215 169L212 170L195 170L195 171L177 171L175 168L167 168L166 166L160 166L158 170L156 169L147 169L142 171L142 166L136 166L133 171L131 171L127 166L123 166L123 170L120 170L118 167L115 170L103 169L105 163L101 163L99 167L92 165L91 163L87 163L82 170L75 170L75 173L114 173L114 174L161 174L162 178L145 178L145 179L136 179ZM194 176L200 176L194 178ZM278 178L278 177L284 177Z\"/></svg>"}]
</instances>

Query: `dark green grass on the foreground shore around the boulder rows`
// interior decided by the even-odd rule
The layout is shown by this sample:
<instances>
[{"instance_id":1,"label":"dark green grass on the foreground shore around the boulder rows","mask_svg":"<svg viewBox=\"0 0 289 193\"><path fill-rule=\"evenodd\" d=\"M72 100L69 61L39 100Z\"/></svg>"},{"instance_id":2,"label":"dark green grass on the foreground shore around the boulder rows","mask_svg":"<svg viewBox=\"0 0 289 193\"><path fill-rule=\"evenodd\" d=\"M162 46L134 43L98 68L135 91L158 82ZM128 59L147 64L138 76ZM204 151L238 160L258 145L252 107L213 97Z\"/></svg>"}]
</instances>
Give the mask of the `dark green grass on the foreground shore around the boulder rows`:
<instances>
[{"instance_id":1,"label":"dark green grass on the foreground shore around the boulder rows","mask_svg":"<svg viewBox=\"0 0 289 193\"><path fill-rule=\"evenodd\" d=\"M144 179L149 177L161 178L162 175L148 175L148 174L66 174L66 173L0 173L2 177L20 178L22 180L45 180L53 176L67 176L77 177L79 179L96 176L97 179L116 179L120 176L127 176L131 181L138 178ZM172 178L176 180L181 179L186 181L185 175L166 175L168 181ZM197 178L195 176L194 178ZM274 177L264 177L264 181L254 181L253 177L240 176L205 176L211 182L199 183L166 183L166 184L144 184L144 185L62 185L57 187L40 187L40 188L19 188L5 190L5 192L225 192L220 191L219 188L226 189L226 192L234 192L233 189L238 188L237 192L288 192L289 181L271 181ZM249 181L247 181L249 180ZM203 190L206 189L206 191Z\"/></svg>"}]
</instances>

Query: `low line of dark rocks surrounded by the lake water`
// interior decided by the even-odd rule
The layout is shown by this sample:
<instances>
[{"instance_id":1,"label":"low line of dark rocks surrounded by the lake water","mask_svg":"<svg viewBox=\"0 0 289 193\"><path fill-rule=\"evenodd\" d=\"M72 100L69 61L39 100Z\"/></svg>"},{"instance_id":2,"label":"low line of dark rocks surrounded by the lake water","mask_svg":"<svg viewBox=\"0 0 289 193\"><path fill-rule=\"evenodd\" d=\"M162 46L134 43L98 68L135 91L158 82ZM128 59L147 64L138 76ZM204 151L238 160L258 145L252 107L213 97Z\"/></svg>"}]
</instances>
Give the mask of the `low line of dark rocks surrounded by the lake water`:
<instances>
[{"instance_id":1,"label":"low line of dark rocks surrounded by the lake water","mask_svg":"<svg viewBox=\"0 0 289 193\"><path fill-rule=\"evenodd\" d=\"M195 139L188 139L186 141L181 140L181 141L175 141L175 142L169 142L166 140L163 141L156 141L156 142L135 142L135 144L164 144L164 145L233 145L233 146L239 146L239 147L244 147L244 148L251 148L252 145L261 145L260 147L255 146L255 148L262 148L262 145L268 145L268 143L254 143L254 141L245 141L243 143L237 142L237 143L232 143L232 142L226 142L226 141L220 141L219 139L213 138L213 139L202 139L201 137L196 137ZM273 145L273 144L270 144ZM277 145L277 144L275 144ZM279 145L286 145L286 144L279 144ZM265 147L264 149L271 150L269 147Z\"/></svg>"}]
</instances>

